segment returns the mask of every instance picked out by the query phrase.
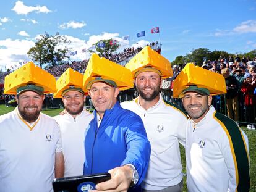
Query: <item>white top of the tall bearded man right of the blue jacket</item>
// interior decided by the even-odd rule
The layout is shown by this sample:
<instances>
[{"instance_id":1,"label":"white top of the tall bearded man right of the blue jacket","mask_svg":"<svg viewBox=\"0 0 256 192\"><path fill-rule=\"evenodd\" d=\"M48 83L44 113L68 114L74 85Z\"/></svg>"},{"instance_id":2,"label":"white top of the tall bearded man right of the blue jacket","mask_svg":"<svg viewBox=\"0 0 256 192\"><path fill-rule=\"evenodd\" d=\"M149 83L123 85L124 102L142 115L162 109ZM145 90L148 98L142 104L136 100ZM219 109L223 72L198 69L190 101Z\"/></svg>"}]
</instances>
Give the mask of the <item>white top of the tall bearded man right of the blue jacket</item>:
<instances>
[{"instance_id":1,"label":"white top of the tall bearded man right of the blue jacket","mask_svg":"<svg viewBox=\"0 0 256 192\"><path fill-rule=\"evenodd\" d=\"M177 107L160 100L145 110L139 98L122 102L124 109L138 114L144 123L151 144L147 175L142 183L146 190L161 190L181 182L182 165L179 141L185 144L187 117Z\"/></svg>"}]
</instances>

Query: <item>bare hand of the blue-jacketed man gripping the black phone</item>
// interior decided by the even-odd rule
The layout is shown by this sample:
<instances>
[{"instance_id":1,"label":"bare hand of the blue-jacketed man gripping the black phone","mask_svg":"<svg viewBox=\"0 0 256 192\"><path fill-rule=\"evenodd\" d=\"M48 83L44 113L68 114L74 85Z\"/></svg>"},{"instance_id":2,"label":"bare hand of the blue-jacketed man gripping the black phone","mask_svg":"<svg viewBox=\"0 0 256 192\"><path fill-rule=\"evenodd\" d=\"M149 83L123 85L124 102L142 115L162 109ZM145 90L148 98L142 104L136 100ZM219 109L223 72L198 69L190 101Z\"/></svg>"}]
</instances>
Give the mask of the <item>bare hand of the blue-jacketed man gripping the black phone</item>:
<instances>
[{"instance_id":1,"label":"bare hand of the blue-jacketed man gripping the black phone","mask_svg":"<svg viewBox=\"0 0 256 192\"><path fill-rule=\"evenodd\" d=\"M121 192L128 190L130 182L132 182L132 169L130 169L130 167L116 167L109 170L109 173L111 174L111 179L106 182L98 183L98 185L96 185L96 190L92 190L91 192Z\"/></svg>"}]
</instances>

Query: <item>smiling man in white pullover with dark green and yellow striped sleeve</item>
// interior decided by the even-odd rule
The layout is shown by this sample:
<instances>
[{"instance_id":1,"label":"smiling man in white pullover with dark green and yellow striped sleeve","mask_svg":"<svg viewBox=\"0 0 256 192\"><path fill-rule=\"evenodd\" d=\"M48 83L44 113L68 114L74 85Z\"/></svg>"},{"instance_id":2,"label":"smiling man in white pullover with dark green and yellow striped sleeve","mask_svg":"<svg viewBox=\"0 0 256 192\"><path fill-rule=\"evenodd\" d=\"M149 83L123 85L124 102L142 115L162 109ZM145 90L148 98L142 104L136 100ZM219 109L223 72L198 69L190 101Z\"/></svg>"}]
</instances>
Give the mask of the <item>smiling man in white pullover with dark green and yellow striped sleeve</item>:
<instances>
[{"instance_id":1,"label":"smiling man in white pullover with dark green and yellow striped sleeve","mask_svg":"<svg viewBox=\"0 0 256 192\"><path fill-rule=\"evenodd\" d=\"M189 69L189 68L187 68ZM249 151L244 132L223 114L211 106L211 94L223 94L225 81L220 75L205 71L205 77L197 68L184 70L182 86L174 84L174 96L182 98L189 122L186 127L187 188L189 191L249 191ZM186 76L186 74L189 74ZM217 76L218 75L218 76ZM216 77L216 78L213 78ZM192 78L193 77L193 78ZM213 82L213 83L211 83ZM177 86L176 86L177 85ZM216 86L215 86L216 85ZM177 88L179 86L179 88ZM212 87L211 87L212 86ZM181 90L177 91L176 90Z\"/></svg>"}]
</instances>

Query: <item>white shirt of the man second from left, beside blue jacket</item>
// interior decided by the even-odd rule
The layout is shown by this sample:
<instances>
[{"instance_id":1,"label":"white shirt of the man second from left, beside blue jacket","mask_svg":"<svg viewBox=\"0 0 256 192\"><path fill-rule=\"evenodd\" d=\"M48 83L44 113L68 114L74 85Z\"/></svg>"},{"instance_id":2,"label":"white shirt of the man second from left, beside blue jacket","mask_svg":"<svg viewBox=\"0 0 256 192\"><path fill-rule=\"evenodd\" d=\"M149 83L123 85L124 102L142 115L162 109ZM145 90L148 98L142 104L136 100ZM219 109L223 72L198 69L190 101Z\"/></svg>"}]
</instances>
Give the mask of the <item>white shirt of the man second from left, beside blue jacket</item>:
<instances>
[{"instance_id":1,"label":"white shirt of the man second from left, beside blue jacket","mask_svg":"<svg viewBox=\"0 0 256 192\"><path fill-rule=\"evenodd\" d=\"M65 161L64 177L83 175L85 128L93 119L93 114L84 108L75 118L66 112L54 119L61 128L62 151Z\"/></svg>"}]
</instances>

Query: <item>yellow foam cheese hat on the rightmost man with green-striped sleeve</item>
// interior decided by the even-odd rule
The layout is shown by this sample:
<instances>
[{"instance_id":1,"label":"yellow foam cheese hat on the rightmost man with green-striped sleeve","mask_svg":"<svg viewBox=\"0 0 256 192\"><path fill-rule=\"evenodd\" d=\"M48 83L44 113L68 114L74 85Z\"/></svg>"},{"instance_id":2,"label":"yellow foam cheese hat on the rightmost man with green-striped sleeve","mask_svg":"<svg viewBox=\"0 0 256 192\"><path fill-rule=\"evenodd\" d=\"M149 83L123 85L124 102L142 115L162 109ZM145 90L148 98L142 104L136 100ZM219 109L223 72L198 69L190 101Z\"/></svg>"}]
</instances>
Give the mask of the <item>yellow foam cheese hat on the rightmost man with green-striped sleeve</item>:
<instances>
[{"instance_id":1,"label":"yellow foam cheese hat on the rightmost man with green-striped sleeve","mask_svg":"<svg viewBox=\"0 0 256 192\"><path fill-rule=\"evenodd\" d=\"M223 75L189 63L174 80L173 97L182 98L184 90L191 85L206 88L210 91L210 95L226 93L226 83Z\"/></svg>"}]
</instances>

